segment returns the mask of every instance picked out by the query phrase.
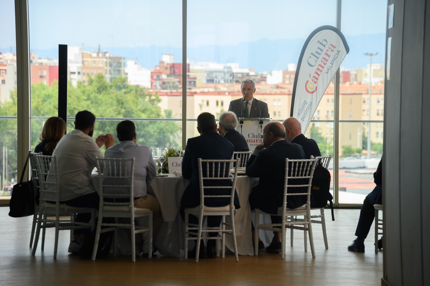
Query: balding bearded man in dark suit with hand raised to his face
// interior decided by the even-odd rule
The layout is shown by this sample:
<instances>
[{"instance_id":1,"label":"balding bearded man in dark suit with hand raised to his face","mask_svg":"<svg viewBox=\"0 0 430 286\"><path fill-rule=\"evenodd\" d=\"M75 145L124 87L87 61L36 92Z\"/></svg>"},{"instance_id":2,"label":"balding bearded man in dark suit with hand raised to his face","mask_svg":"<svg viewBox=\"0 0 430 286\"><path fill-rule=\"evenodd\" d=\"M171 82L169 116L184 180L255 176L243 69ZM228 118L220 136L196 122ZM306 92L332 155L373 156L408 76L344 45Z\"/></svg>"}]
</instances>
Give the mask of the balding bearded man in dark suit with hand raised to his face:
<instances>
[{"instance_id":1,"label":"balding bearded man in dark suit with hand raised to his face","mask_svg":"<svg viewBox=\"0 0 430 286\"><path fill-rule=\"evenodd\" d=\"M256 146L253 154L246 163L246 175L260 178L258 185L249 195L251 210L259 208L265 213L276 214L282 206L284 194L285 159L304 159L300 145L289 143L285 138L285 128L279 122L271 122L264 126L263 143ZM306 192L294 188L291 192ZM287 207L295 209L306 204L306 196L287 196ZM271 216L272 223L281 223L280 216ZM253 228L253 227L252 227ZM274 232L272 243L266 251L278 253L281 251L281 233ZM260 244L259 249L262 249ZM264 247L264 246L263 246Z\"/></svg>"}]
</instances>

